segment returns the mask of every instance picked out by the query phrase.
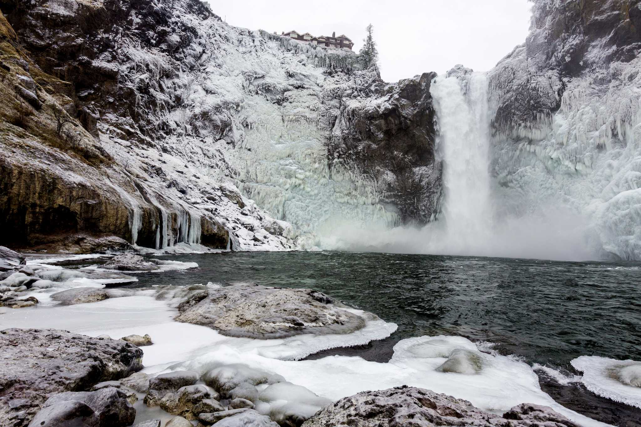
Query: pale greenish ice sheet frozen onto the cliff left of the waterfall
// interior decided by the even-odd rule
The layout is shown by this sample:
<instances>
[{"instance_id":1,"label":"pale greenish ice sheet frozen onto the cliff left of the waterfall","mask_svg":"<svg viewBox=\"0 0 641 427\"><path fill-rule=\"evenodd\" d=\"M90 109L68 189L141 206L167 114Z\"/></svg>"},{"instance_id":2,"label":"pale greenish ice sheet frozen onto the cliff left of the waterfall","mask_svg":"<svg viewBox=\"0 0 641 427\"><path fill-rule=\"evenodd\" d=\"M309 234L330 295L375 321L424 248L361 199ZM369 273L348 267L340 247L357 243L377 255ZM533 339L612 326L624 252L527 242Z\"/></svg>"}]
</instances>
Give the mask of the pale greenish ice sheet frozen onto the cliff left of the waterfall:
<instances>
[{"instance_id":1,"label":"pale greenish ice sheet frozen onto the cliff left of the waterfall","mask_svg":"<svg viewBox=\"0 0 641 427\"><path fill-rule=\"evenodd\" d=\"M381 204L370 182L340 165L328 165L318 124L285 120L265 100L248 105L256 119L235 152L237 186L274 218L287 221L304 249L325 247L343 227L394 227L399 216Z\"/></svg>"}]
</instances>

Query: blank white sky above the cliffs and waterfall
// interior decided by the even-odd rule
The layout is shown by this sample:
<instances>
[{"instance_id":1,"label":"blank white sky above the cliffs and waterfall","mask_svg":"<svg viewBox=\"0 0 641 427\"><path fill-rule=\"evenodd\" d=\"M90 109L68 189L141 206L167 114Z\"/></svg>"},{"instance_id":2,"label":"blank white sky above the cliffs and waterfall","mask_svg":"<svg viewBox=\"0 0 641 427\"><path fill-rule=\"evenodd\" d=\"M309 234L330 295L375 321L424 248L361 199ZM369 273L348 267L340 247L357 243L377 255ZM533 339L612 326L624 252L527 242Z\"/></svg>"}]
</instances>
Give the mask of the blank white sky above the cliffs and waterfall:
<instances>
[{"instance_id":1,"label":"blank white sky above the cliffs and waterfall","mask_svg":"<svg viewBox=\"0 0 641 427\"><path fill-rule=\"evenodd\" d=\"M358 51L365 26L374 25L385 81L462 63L486 71L525 42L527 0L208 0L229 24L273 32L345 34Z\"/></svg>"}]
</instances>

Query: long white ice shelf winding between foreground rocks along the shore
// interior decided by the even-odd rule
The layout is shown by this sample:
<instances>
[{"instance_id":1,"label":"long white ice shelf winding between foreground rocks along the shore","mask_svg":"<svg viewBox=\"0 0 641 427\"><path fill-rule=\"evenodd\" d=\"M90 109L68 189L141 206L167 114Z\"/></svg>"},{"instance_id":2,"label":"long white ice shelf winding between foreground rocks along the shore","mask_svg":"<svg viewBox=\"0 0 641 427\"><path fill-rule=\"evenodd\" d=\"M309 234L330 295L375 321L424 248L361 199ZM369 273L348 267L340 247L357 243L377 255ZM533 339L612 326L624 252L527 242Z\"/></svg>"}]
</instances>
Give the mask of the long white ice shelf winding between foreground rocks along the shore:
<instances>
[{"instance_id":1,"label":"long white ice shelf winding between foreground rocks along the shore","mask_svg":"<svg viewBox=\"0 0 641 427\"><path fill-rule=\"evenodd\" d=\"M410 385L467 399L494 414L527 402L549 406L583 426L605 425L556 403L540 390L537 375L524 362L481 353L476 344L462 337L404 339L395 346L394 357L388 363L339 356L295 361L292 359L302 359L315 351L383 339L394 332L395 325L373 321L363 330L345 335L297 335L269 340L226 337L205 326L174 321L177 311L156 300L153 293L138 291L134 296L101 302L12 310L0 319L3 328L60 328L90 336L106 334L115 339L149 334L154 344L142 350L144 372L150 375L203 372L241 361L251 368L282 375L288 382L332 401L366 389ZM456 348L482 355L481 373L436 371Z\"/></svg>"}]
</instances>

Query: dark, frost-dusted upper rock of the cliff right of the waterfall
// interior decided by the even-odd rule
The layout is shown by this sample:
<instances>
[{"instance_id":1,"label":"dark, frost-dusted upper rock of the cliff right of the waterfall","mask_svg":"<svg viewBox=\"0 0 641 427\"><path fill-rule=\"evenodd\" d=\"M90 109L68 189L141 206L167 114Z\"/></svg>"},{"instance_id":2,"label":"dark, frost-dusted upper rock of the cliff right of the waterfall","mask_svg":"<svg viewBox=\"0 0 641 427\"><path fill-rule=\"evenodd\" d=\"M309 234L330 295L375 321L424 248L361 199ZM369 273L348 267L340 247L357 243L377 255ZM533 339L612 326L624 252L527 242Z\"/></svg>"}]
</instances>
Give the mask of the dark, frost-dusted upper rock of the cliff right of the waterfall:
<instances>
[{"instance_id":1,"label":"dark, frost-dusted upper rock of the cliff right of the waterfall","mask_svg":"<svg viewBox=\"0 0 641 427\"><path fill-rule=\"evenodd\" d=\"M495 131L538 138L572 79L607 90L620 80L610 65L635 62L640 50L638 0L534 0L526 42L490 71Z\"/></svg>"}]
</instances>

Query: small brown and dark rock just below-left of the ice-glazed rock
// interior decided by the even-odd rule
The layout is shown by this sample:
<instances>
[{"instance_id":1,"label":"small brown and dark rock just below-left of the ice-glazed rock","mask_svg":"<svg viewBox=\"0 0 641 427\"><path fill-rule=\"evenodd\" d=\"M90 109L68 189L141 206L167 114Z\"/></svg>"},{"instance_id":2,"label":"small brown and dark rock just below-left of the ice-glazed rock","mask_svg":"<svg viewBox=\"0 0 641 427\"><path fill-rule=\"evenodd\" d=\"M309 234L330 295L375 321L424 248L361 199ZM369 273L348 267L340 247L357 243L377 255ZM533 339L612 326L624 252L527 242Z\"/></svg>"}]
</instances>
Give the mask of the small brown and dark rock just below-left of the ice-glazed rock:
<instances>
[{"instance_id":1,"label":"small brown and dark rock just below-left of the ice-glazed rock","mask_svg":"<svg viewBox=\"0 0 641 427\"><path fill-rule=\"evenodd\" d=\"M186 385L175 393L167 393L160 401L160 408L172 415L181 415L188 420L197 419L203 412L225 410L216 400L218 393L205 385Z\"/></svg>"}]
</instances>

